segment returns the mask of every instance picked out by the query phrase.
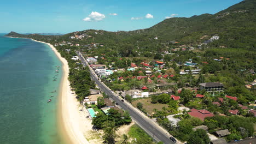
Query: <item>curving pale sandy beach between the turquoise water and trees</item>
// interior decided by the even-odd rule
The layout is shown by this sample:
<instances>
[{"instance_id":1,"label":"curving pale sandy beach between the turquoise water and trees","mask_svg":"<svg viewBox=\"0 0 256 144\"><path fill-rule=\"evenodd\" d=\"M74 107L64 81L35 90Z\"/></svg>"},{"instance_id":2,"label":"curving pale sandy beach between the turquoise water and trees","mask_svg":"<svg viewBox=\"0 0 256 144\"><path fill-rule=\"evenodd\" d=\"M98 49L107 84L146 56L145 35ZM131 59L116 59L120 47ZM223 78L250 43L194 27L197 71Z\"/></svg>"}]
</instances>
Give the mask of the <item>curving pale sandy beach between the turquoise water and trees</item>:
<instances>
[{"instance_id":1,"label":"curving pale sandy beach between the turquoise water and trees","mask_svg":"<svg viewBox=\"0 0 256 144\"><path fill-rule=\"evenodd\" d=\"M48 46L51 48L51 50L54 51L55 55L62 63L62 77L57 102L57 131L60 133L60 136L63 139L62 141L65 144L90 144L89 141L85 138L85 136L90 136L92 131L91 121L89 118L86 118L89 116L89 113L84 107L80 107L79 101L77 101L74 92L69 86L69 67L67 60L61 57L60 53L50 43L45 43L43 41L34 39L31 40L38 43L48 44ZM83 111L79 111L80 109L83 109ZM101 142L100 140L93 140L93 143L98 144Z\"/></svg>"}]
</instances>

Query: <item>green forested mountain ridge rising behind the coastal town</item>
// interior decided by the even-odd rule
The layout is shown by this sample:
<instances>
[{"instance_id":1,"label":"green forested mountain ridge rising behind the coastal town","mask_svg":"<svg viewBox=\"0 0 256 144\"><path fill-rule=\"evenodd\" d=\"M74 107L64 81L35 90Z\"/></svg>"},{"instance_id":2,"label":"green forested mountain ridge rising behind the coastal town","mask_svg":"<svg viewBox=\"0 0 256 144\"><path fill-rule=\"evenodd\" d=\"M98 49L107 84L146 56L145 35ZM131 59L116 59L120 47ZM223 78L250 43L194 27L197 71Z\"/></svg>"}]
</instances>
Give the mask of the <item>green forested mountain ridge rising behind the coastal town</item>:
<instances>
[{"instance_id":1,"label":"green forested mountain ridge rising behind the coastal town","mask_svg":"<svg viewBox=\"0 0 256 144\"><path fill-rule=\"evenodd\" d=\"M90 37L84 43L103 43L112 46L131 44L138 47L148 47L149 51L158 49L161 43L178 41L179 45L201 44L213 35L219 40L211 43L212 47L232 47L255 49L256 39L256 0L246 0L232 5L228 9L214 15L173 17L166 19L153 27L136 31L107 32L89 29L73 32L62 36L30 34L21 36L11 32L7 36L28 37L44 40L67 40L74 35L86 34ZM158 37L155 40L154 37Z\"/></svg>"}]
</instances>

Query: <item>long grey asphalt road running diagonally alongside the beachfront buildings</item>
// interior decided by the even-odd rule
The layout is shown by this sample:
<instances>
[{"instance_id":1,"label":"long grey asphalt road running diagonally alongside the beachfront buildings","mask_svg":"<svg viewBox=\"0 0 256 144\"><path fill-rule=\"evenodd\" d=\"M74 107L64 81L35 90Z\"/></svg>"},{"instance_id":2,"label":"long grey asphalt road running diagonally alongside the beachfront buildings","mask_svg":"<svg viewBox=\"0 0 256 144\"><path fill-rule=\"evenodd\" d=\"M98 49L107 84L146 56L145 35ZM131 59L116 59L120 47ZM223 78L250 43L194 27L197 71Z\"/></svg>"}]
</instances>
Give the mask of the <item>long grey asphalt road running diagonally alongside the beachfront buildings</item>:
<instances>
[{"instance_id":1,"label":"long grey asphalt road running diagonally alongside the beachfront buildings","mask_svg":"<svg viewBox=\"0 0 256 144\"><path fill-rule=\"evenodd\" d=\"M77 52L78 57L80 58L80 60L82 61L83 65L86 66L86 62L85 59L83 59L80 55L79 52ZM169 139L168 134L165 134L164 131L160 130L160 128L158 128L158 126L154 125L153 122L151 121L151 119L149 118L145 118L144 116L142 116L142 113L137 112L136 110L134 110L133 107L130 107L129 104L127 104L128 102L126 101L121 101L122 98L120 98L118 95L115 95L113 93L111 93L109 91L109 88L107 88L106 86L104 86L102 84L102 82L100 82L100 80L98 80L97 76L92 73L92 71L90 71L91 77L93 80L95 80L96 84L98 85L98 87L101 88L101 90L106 93L107 95L109 95L112 100L115 101L115 103L124 109L125 111L128 111L133 119L133 121L135 121L143 130L145 130L150 136L152 136L154 138L154 140L156 141L162 141L165 144L169 144L169 143L174 143L173 141L171 141Z\"/></svg>"}]
</instances>

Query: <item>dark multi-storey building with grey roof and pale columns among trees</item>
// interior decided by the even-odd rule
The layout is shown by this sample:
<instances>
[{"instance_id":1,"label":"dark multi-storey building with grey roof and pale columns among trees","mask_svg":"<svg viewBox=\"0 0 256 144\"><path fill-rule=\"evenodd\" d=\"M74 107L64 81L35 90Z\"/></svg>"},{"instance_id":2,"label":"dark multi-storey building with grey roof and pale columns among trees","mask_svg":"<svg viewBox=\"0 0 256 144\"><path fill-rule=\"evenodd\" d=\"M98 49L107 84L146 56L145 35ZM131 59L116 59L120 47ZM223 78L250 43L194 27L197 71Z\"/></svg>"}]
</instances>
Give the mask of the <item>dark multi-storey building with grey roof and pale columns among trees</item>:
<instances>
[{"instance_id":1,"label":"dark multi-storey building with grey roof and pale columns among trees","mask_svg":"<svg viewBox=\"0 0 256 144\"><path fill-rule=\"evenodd\" d=\"M200 89L205 89L206 92L223 92L223 84L220 82L205 82L199 83Z\"/></svg>"}]
</instances>

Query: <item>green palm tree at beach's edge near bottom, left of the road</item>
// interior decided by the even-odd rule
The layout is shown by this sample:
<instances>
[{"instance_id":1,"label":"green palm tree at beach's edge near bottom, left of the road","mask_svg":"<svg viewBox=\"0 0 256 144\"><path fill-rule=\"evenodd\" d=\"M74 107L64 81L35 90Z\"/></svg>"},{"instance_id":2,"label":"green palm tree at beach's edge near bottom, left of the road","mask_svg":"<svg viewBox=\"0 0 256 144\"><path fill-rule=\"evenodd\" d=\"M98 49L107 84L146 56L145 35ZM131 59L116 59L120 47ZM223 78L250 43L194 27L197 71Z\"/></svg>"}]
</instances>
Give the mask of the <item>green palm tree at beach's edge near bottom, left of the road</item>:
<instances>
[{"instance_id":1,"label":"green palm tree at beach's edge near bottom, left of the road","mask_svg":"<svg viewBox=\"0 0 256 144\"><path fill-rule=\"evenodd\" d=\"M103 135L103 140L104 143L107 144L114 144L115 143L115 137L117 137L117 130L118 127L115 125L115 122L106 122L104 124L104 135Z\"/></svg>"}]
</instances>

